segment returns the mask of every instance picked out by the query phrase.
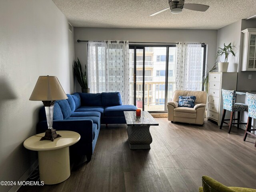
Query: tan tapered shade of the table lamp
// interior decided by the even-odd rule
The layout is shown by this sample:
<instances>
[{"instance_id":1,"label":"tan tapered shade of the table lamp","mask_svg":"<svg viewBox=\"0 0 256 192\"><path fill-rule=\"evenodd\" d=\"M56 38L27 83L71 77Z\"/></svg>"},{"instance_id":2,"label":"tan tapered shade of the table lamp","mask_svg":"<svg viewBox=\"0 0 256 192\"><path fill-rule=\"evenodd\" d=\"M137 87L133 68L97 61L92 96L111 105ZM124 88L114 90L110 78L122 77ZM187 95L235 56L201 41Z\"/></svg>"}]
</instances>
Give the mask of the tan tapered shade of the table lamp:
<instances>
[{"instance_id":1,"label":"tan tapered shade of the table lamp","mask_svg":"<svg viewBox=\"0 0 256 192\"><path fill-rule=\"evenodd\" d=\"M56 101L67 98L56 76L39 76L29 100Z\"/></svg>"}]
</instances>

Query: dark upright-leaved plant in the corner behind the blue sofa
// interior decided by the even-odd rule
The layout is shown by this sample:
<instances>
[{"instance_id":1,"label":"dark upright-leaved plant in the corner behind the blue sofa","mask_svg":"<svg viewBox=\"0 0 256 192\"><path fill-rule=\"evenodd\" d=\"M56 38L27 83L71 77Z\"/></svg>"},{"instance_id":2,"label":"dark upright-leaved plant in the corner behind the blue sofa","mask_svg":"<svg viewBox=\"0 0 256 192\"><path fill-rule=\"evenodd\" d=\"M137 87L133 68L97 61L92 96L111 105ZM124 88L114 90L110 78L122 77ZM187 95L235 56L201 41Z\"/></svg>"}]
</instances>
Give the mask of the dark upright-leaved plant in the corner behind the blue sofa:
<instances>
[{"instance_id":1,"label":"dark upright-leaved plant in the corner behind the blue sofa","mask_svg":"<svg viewBox=\"0 0 256 192\"><path fill-rule=\"evenodd\" d=\"M73 70L74 70L76 79L82 88L82 93L89 93L90 88L88 88L88 83L87 83L86 65L84 66L84 73L83 73L81 63L80 63L79 59L77 58L77 62L74 61Z\"/></svg>"}]
</instances>

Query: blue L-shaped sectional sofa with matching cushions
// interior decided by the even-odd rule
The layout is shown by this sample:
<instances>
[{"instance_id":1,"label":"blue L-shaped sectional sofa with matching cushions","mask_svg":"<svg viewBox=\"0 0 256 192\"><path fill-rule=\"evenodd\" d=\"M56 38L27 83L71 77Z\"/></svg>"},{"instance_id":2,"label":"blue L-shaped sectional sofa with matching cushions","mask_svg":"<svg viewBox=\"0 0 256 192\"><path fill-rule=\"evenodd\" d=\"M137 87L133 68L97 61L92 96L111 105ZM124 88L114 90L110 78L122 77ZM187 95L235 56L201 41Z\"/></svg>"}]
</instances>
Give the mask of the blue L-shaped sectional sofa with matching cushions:
<instances>
[{"instance_id":1,"label":"blue L-shaped sectional sofa with matching cushions","mask_svg":"<svg viewBox=\"0 0 256 192\"><path fill-rule=\"evenodd\" d=\"M70 146L70 152L86 155L90 161L100 132L100 124L125 124L124 111L135 111L133 105L122 105L119 92L74 93L68 99L57 100L54 105L53 128L70 130L81 136ZM47 129L44 107L39 112L37 133Z\"/></svg>"}]
</instances>

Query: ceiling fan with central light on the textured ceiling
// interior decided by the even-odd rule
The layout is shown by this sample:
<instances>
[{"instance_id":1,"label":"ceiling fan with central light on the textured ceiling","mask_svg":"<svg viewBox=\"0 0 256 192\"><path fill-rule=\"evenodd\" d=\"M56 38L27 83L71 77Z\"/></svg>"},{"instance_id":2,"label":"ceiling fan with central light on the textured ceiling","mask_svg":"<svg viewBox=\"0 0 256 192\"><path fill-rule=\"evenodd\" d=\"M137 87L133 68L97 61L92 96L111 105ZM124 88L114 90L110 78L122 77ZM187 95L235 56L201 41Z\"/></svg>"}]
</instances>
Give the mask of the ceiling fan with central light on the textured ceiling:
<instances>
[{"instance_id":1,"label":"ceiling fan with central light on the textured ceiling","mask_svg":"<svg viewBox=\"0 0 256 192\"><path fill-rule=\"evenodd\" d=\"M182 9L190 9L190 10L194 10L194 11L206 11L208 10L209 6L208 5L202 5L202 4L194 4L194 3L185 3L185 0L168 0L169 2L169 6L168 8L165 8L163 10L160 10L156 13L153 13L150 16L154 16L157 15L159 13L162 13L168 9L170 9L172 14L178 14L182 12Z\"/></svg>"}]
</instances>

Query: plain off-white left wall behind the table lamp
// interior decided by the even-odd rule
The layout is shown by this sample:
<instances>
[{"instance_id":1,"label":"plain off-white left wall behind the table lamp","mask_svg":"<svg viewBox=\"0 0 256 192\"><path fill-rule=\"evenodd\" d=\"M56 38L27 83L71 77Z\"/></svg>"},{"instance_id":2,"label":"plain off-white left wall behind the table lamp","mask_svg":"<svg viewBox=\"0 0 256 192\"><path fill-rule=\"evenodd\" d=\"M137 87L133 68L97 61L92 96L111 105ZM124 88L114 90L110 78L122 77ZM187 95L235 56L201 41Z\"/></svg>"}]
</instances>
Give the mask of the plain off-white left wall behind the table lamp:
<instances>
[{"instance_id":1,"label":"plain off-white left wall behind the table lamp","mask_svg":"<svg viewBox=\"0 0 256 192\"><path fill-rule=\"evenodd\" d=\"M23 142L36 133L42 102L28 99L40 75L73 92L74 37L52 0L1 0L0 26L0 181L17 181L37 158Z\"/></svg>"}]
</instances>

